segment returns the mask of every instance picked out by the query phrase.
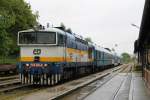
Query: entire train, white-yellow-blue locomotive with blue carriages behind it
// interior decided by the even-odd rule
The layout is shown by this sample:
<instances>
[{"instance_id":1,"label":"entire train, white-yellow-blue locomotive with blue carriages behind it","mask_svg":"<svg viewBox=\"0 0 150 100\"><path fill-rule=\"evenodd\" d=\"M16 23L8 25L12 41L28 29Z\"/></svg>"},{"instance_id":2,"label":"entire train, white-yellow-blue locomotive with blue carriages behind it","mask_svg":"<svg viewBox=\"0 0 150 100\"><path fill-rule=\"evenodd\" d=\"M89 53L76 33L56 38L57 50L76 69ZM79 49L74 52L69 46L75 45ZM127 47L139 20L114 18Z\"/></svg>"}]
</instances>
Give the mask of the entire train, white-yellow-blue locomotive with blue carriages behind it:
<instances>
[{"instance_id":1,"label":"entire train, white-yellow-blue locomotive with blue carriages behind it","mask_svg":"<svg viewBox=\"0 0 150 100\"><path fill-rule=\"evenodd\" d=\"M116 53L62 27L19 31L17 41L23 84L54 85L121 64Z\"/></svg>"}]
</instances>

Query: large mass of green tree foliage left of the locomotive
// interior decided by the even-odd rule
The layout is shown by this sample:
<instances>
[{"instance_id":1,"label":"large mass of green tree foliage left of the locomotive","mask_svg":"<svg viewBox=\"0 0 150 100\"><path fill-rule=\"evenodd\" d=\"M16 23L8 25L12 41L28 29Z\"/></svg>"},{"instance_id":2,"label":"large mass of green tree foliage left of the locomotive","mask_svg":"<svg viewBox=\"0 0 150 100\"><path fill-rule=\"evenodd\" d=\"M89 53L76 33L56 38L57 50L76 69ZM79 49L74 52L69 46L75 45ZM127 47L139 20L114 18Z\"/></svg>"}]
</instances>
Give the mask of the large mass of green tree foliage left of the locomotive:
<instances>
[{"instance_id":1,"label":"large mass of green tree foliage left of the locomotive","mask_svg":"<svg viewBox=\"0 0 150 100\"><path fill-rule=\"evenodd\" d=\"M35 26L37 18L24 0L0 0L0 56L18 53L18 31Z\"/></svg>"}]
</instances>

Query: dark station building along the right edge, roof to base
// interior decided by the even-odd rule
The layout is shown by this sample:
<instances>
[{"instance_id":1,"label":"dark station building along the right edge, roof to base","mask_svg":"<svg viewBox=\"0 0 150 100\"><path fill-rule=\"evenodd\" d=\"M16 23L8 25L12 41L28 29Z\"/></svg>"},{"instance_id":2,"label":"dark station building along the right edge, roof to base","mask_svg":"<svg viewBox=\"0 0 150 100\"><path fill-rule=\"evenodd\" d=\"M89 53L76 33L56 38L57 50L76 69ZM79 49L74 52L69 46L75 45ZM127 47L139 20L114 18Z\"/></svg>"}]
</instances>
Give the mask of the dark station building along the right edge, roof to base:
<instances>
[{"instance_id":1,"label":"dark station building along the right edge, roof to base","mask_svg":"<svg viewBox=\"0 0 150 100\"><path fill-rule=\"evenodd\" d=\"M150 0L145 0L139 37L134 43L134 53L138 56L143 78L150 89Z\"/></svg>"}]
</instances>

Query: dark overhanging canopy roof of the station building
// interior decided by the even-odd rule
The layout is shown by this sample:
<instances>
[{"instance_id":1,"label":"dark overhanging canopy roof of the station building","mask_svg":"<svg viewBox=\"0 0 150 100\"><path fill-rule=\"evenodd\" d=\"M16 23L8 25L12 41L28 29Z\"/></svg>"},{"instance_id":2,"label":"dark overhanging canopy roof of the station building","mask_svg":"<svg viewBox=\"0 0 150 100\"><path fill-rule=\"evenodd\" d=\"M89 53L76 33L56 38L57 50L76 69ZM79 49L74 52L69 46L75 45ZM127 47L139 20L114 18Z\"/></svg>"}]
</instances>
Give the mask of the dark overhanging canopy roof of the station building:
<instances>
[{"instance_id":1,"label":"dark overhanging canopy roof of the station building","mask_svg":"<svg viewBox=\"0 0 150 100\"><path fill-rule=\"evenodd\" d=\"M145 0L145 6L140 26L139 37L134 43L134 52L140 52L150 45L150 0Z\"/></svg>"}]
</instances>

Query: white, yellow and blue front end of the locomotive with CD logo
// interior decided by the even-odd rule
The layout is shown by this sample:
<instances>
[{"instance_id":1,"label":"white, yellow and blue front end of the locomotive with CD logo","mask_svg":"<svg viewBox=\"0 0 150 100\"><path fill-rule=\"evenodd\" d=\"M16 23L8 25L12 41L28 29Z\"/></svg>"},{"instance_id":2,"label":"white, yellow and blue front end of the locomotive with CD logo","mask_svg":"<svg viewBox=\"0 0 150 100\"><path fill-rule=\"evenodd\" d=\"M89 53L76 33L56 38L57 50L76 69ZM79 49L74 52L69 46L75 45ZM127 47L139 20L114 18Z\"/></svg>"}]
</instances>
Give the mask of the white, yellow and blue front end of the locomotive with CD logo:
<instances>
[{"instance_id":1,"label":"white, yellow and blue front end of the locomotive with CD logo","mask_svg":"<svg viewBox=\"0 0 150 100\"><path fill-rule=\"evenodd\" d=\"M64 62L64 47L58 46L58 42L55 31L27 30L18 33L19 73L22 83L47 85L59 81Z\"/></svg>"}]
</instances>

